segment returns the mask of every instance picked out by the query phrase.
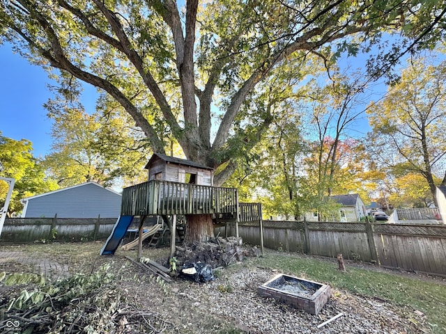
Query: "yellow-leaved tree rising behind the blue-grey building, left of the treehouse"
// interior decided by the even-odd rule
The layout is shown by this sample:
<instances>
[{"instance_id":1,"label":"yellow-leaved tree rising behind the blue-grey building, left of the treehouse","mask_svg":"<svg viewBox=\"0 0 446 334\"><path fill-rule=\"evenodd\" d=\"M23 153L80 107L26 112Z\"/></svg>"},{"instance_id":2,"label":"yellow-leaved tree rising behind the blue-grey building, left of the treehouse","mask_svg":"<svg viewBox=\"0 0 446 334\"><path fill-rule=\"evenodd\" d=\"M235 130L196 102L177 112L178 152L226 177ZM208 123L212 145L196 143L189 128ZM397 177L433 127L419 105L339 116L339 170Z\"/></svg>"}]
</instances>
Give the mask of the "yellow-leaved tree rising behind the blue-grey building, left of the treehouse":
<instances>
[{"instance_id":1,"label":"yellow-leaved tree rising behind the blue-grey building, left of the treehouse","mask_svg":"<svg viewBox=\"0 0 446 334\"><path fill-rule=\"evenodd\" d=\"M70 88L73 88L72 86ZM98 101L89 115L77 100L77 90L56 91L45 107L52 125L52 152L45 156L47 173L61 187L83 182L102 186L146 180L148 144L137 129L128 127L121 106Z\"/></svg>"}]
</instances>

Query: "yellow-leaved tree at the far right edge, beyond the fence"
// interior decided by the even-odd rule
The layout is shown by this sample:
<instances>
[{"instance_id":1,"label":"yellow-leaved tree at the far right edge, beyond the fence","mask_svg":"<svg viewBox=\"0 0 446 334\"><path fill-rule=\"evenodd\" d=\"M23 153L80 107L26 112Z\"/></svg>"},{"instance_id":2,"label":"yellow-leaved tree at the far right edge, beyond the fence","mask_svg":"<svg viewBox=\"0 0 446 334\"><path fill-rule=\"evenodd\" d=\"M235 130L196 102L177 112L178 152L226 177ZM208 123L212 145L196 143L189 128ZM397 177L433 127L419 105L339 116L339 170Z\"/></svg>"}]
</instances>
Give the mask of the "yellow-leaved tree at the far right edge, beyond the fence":
<instances>
[{"instance_id":1,"label":"yellow-leaved tree at the far right edge, beyond the fence","mask_svg":"<svg viewBox=\"0 0 446 334\"><path fill-rule=\"evenodd\" d=\"M436 205L436 186L446 184L445 83L446 61L412 59L401 82L368 110L374 157L387 170L399 169L399 175L424 177Z\"/></svg>"}]
</instances>

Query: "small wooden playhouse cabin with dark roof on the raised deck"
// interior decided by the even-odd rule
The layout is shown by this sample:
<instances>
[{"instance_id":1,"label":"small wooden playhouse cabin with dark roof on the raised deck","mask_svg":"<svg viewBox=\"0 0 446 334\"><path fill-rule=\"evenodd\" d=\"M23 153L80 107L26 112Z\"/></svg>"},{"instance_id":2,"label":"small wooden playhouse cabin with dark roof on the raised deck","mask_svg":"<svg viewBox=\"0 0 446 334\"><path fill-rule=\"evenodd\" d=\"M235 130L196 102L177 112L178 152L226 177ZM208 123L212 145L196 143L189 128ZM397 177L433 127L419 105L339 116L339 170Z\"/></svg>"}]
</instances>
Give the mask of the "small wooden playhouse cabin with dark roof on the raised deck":
<instances>
[{"instance_id":1,"label":"small wooden playhouse cabin with dark roof on the raised deck","mask_svg":"<svg viewBox=\"0 0 446 334\"><path fill-rule=\"evenodd\" d=\"M202 186L213 186L214 183L213 168L165 154L154 153L145 168L148 169L148 181L162 180Z\"/></svg>"}]
</instances>

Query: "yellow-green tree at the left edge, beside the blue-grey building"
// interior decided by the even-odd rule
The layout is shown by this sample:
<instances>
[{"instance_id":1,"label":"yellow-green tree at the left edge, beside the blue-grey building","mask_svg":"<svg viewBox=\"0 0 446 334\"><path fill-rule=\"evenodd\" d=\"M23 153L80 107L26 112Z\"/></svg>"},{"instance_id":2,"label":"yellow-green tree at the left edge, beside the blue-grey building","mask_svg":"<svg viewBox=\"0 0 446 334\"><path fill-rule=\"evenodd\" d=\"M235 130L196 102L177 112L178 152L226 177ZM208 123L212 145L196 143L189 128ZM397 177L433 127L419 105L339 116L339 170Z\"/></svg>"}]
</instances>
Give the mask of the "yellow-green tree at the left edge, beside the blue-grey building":
<instances>
[{"instance_id":1,"label":"yellow-green tree at the left edge, beside the blue-grey building","mask_svg":"<svg viewBox=\"0 0 446 334\"><path fill-rule=\"evenodd\" d=\"M1 175L13 177L15 186L8 207L8 215L22 211L22 198L56 190L59 187L56 182L45 175L43 166L38 159L33 157L33 146L30 141L1 136L0 132L0 161L5 168ZM0 182L0 206L3 207L8 186L6 182Z\"/></svg>"}]
</instances>

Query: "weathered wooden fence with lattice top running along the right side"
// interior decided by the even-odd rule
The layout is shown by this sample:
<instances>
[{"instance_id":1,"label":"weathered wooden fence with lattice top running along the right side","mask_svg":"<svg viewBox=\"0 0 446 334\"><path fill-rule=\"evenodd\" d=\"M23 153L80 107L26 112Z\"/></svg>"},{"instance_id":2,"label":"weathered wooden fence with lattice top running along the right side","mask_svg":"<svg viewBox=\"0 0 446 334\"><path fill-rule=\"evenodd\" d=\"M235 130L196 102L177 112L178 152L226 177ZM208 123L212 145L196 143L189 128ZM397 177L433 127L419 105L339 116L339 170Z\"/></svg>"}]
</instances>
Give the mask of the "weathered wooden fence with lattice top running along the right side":
<instances>
[{"instance_id":1,"label":"weathered wooden fence with lattice top running along the right side","mask_svg":"<svg viewBox=\"0 0 446 334\"><path fill-rule=\"evenodd\" d=\"M259 224L240 223L240 237L259 245ZM231 235L235 231L230 231ZM446 276L446 226L387 223L263 221L265 247L376 262Z\"/></svg>"}]
</instances>

